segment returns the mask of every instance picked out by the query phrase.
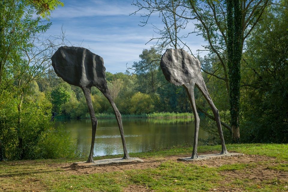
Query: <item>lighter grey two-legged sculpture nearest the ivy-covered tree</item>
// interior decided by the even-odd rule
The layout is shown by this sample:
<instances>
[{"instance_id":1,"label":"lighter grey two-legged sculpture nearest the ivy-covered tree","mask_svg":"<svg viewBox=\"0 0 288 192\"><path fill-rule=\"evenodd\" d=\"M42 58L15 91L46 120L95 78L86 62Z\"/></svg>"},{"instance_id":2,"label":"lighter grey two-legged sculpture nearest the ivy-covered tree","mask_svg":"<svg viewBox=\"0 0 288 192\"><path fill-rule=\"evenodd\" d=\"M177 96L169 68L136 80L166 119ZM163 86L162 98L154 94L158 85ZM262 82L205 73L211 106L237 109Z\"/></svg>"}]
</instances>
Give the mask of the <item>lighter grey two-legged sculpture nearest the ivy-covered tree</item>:
<instances>
[{"instance_id":1,"label":"lighter grey two-legged sculpture nearest the ivy-covered tree","mask_svg":"<svg viewBox=\"0 0 288 192\"><path fill-rule=\"evenodd\" d=\"M201 64L199 60L188 54L183 49L167 49L161 58L160 66L166 80L170 83L173 83L174 85L183 86L187 91L187 95L189 96L195 121L194 143L191 158L198 158L197 143L200 122L194 98L195 85L202 92L203 96L208 101L211 110L213 111L221 140L221 154L228 154L221 128L219 112L215 107L206 88L204 79L201 74Z\"/></svg>"}]
</instances>

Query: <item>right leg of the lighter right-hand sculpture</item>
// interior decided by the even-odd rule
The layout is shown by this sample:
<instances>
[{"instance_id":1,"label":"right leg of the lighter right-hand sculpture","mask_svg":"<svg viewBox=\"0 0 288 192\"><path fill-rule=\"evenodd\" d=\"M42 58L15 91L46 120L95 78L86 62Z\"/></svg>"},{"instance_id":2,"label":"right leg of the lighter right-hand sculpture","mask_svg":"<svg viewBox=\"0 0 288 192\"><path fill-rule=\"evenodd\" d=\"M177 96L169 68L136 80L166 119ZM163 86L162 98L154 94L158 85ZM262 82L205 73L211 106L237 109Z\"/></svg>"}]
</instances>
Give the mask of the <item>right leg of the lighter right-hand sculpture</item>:
<instances>
[{"instance_id":1,"label":"right leg of the lighter right-hand sculpture","mask_svg":"<svg viewBox=\"0 0 288 192\"><path fill-rule=\"evenodd\" d=\"M220 141L221 141L221 146L222 146L222 151L221 154L228 154L226 146L225 146L225 141L224 141L224 137L223 137L223 132L222 132L222 128L221 128L221 122L220 122L220 116L219 116L219 111L217 110L217 108L215 107L209 93L206 87L206 84L204 82L204 79L202 77L202 75L200 75L198 77L198 80L196 81L196 86L199 88L199 90L202 92L202 94L204 95L205 99L207 100L208 104L211 107L211 110L214 114L215 117L215 121L217 123L217 128L218 128L218 133L220 136Z\"/></svg>"}]
</instances>

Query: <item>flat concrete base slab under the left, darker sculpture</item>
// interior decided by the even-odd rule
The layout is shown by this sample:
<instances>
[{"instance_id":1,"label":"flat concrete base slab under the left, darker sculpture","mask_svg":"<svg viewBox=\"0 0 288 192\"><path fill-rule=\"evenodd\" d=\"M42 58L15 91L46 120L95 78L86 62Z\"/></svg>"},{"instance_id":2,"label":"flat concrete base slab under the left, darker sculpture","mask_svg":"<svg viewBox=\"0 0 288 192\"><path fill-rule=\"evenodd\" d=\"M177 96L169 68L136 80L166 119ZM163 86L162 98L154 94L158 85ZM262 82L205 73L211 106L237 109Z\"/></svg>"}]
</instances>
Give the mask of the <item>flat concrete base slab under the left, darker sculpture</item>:
<instances>
[{"instance_id":1,"label":"flat concrete base slab under the left, darker sculpture","mask_svg":"<svg viewBox=\"0 0 288 192\"><path fill-rule=\"evenodd\" d=\"M76 162L76 163L73 163L73 165L85 167L85 166L103 166L103 165L113 165L113 164L127 164L127 163L137 163L137 162L144 162L144 161L140 158L137 158L137 157L131 157L129 159L113 158L113 159L97 160L97 161L94 161L94 163L86 163L86 161Z\"/></svg>"}]
</instances>

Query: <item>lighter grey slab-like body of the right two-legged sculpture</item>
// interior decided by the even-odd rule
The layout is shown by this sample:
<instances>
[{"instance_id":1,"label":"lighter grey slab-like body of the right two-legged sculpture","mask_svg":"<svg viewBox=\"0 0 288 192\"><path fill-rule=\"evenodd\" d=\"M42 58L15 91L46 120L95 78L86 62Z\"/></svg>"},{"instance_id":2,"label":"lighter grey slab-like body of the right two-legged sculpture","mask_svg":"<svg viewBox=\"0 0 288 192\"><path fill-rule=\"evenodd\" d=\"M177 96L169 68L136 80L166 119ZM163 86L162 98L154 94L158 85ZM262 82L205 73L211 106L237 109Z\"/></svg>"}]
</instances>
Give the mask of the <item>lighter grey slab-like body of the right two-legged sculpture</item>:
<instances>
[{"instance_id":1,"label":"lighter grey slab-like body of the right two-legged sculpture","mask_svg":"<svg viewBox=\"0 0 288 192\"><path fill-rule=\"evenodd\" d=\"M184 49L167 49L161 58L161 69L167 81L180 86L201 74L200 61Z\"/></svg>"}]
</instances>

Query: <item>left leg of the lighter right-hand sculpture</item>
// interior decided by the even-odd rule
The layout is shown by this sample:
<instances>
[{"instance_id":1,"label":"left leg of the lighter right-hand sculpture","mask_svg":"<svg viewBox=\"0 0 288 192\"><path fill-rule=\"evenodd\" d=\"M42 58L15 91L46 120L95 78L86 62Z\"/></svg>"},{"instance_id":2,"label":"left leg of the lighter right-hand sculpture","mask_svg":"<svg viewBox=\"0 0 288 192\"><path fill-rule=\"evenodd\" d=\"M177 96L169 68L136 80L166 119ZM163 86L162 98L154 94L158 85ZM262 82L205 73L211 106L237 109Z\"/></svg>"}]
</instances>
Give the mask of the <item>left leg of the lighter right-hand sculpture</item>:
<instances>
[{"instance_id":1,"label":"left leg of the lighter right-hand sculpture","mask_svg":"<svg viewBox=\"0 0 288 192\"><path fill-rule=\"evenodd\" d=\"M194 143L193 143L193 152L192 152L192 159L198 158L197 153L197 145L198 145L198 133L199 133L199 123L200 118L198 116L197 110L196 110L196 104L195 104L195 98L194 98L194 85L186 84L184 85L187 94L189 96L189 100L193 109L193 115L194 115L194 123L195 123L195 131L194 131Z\"/></svg>"}]
</instances>

